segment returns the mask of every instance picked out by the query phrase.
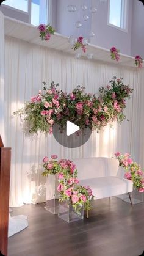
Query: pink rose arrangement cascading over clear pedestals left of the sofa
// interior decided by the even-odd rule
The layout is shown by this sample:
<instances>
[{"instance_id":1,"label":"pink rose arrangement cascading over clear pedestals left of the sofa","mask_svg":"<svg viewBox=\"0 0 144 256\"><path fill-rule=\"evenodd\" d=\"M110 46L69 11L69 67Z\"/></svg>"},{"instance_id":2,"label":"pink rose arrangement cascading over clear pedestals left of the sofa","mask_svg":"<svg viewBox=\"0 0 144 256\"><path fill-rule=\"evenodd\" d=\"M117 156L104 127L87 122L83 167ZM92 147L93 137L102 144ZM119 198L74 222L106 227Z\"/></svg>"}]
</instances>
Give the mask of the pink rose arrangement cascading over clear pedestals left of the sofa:
<instances>
[{"instance_id":1,"label":"pink rose arrangement cascading over clear pedestals left of the sofa","mask_svg":"<svg viewBox=\"0 0 144 256\"><path fill-rule=\"evenodd\" d=\"M89 186L78 185L77 170L73 161L60 159L56 160L57 155L52 155L51 159L47 156L43 158L44 171L43 176L48 174L57 174L59 180L59 202L67 201L74 207L74 210L79 213L79 210L84 205L85 210L90 210L93 200L92 190Z\"/></svg>"}]
</instances>

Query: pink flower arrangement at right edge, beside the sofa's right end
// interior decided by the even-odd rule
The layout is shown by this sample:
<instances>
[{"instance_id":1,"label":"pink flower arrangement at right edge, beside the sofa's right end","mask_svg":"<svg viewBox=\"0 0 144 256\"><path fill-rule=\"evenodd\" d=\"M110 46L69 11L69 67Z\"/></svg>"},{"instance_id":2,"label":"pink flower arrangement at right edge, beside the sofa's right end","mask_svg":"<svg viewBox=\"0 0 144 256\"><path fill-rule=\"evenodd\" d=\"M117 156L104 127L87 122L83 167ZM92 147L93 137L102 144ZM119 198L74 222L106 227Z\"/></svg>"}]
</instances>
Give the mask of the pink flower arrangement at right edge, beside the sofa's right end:
<instances>
[{"instance_id":1,"label":"pink flower arrangement at right edge, beside the sofa's right end","mask_svg":"<svg viewBox=\"0 0 144 256\"><path fill-rule=\"evenodd\" d=\"M130 158L129 153L121 155L120 152L117 152L115 153L115 156L118 159L120 166L124 167L126 170L124 178L132 180L134 187L139 192L144 192L144 176L140 165Z\"/></svg>"}]
</instances>

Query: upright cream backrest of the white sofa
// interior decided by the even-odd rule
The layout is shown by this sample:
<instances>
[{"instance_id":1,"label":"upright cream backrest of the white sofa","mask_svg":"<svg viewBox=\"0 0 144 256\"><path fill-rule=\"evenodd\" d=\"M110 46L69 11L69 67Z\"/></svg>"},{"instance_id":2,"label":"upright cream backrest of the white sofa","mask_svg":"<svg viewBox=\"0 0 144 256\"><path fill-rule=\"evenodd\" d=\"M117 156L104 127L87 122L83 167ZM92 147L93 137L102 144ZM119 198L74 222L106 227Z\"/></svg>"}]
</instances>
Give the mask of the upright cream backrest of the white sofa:
<instances>
[{"instance_id":1,"label":"upright cream backrest of the white sofa","mask_svg":"<svg viewBox=\"0 0 144 256\"><path fill-rule=\"evenodd\" d=\"M73 159L76 164L77 176L79 180L87 178L116 176L119 162L114 158L79 158Z\"/></svg>"}]
</instances>

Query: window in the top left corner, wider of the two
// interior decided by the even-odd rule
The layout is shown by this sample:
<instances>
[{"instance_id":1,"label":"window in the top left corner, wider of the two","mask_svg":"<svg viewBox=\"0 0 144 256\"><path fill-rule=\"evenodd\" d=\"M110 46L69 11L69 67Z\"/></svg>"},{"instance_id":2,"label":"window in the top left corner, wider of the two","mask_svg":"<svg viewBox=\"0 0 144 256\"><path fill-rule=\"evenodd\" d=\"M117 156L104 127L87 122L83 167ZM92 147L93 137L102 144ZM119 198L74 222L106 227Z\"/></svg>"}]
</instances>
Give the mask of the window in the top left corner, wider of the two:
<instances>
[{"instance_id":1,"label":"window in the top left corner, wider of the two","mask_svg":"<svg viewBox=\"0 0 144 256\"><path fill-rule=\"evenodd\" d=\"M18 19L20 19L20 15L16 14L23 11L25 13L23 15L28 18L23 18L24 16L21 14L21 20L34 26L38 26L40 23L48 23L48 4L49 0L6 0L2 2L3 7L7 7L14 12L15 18L18 16ZM12 16L12 12L9 12L9 10L7 13L6 16Z\"/></svg>"}]
</instances>

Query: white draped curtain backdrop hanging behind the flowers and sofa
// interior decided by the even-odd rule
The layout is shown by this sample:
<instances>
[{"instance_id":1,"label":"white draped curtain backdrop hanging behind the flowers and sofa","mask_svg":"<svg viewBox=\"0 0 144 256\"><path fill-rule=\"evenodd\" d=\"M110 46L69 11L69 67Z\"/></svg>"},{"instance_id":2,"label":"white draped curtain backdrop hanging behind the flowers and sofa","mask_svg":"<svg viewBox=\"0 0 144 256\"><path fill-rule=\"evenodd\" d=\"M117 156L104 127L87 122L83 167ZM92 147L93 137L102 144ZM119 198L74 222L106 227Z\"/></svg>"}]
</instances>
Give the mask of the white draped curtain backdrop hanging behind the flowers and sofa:
<instances>
[{"instance_id":1,"label":"white draped curtain backdrop hanging behind the flowers and sofa","mask_svg":"<svg viewBox=\"0 0 144 256\"><path fill-rule=\"evenodd\" d=\"M0 43L1 44L1 43ZM65 148L53 136L38 134L25 137L20 120L13 112L24 106L32 95L43 89L42 82L59 82L59 88L71 92L77 84L86 92L98 93L113 76L123 77L134 88L126 104L121 125L113 123L100 133L93 132L88 142L78 148ZM10 206L45 201L46 178L41 176L42 159L57 154L59 158L90 156L112 157L116 151L129 152L144 167L143 161L143 70L120 67L88 59L74 59L69 54L33 45L15 38L5 38L4 123L5 146L12 147Z\"/></svg>"}]
</instances>

